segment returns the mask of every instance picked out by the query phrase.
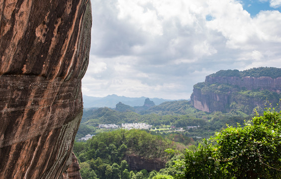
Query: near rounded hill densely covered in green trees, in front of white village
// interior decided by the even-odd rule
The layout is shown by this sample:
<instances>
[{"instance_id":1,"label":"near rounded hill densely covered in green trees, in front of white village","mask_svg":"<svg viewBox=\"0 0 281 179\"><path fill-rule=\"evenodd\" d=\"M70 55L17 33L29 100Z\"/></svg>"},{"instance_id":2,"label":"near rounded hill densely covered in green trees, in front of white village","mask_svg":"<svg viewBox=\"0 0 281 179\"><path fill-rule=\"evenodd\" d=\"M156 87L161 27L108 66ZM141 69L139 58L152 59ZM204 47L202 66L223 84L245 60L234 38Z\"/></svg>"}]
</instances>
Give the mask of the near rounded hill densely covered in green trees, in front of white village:
<instances>
[{"instance_id":1,"label":"near rounded hill densely covered in green trees, in front of white village","mask_svg":"<svg viewBox=\"0 0 281 179\"><path fill-rule=\"evenodd\" d=\"M161 179L162 176L156 171L151 173L146 170L131 171L128 163L123 159L129 154L167 161L169 159L169 155L165 152L167 148L184 152L186 146L144 130L119 129L99 133L87 142L75 141L73 151L80 162L83 179ZM174 158L172 161L178 159L183 157ZM168 164L174 165L171 162ZM162 171L167 173L167 170ZM170 173L179 174L175 169L171 169Z\"/></svg>"}]
</instances>

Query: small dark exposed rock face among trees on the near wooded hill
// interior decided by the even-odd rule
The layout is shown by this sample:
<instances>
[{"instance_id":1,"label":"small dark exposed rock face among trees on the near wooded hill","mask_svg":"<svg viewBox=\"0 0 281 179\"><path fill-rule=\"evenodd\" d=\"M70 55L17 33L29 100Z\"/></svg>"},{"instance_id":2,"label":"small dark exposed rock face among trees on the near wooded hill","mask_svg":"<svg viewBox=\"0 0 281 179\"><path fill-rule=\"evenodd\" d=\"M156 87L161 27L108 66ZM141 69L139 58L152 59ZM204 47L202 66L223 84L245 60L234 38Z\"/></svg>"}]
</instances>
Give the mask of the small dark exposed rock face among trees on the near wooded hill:
<instances>
[{"instance_id":1,"label":"small dark exposed rock face among trees on the near wooded hill","mask_svg":"<svg viewBox=\"0 0 281 179\"><path fill-rule=\"evenodd\" d=\"M166 165L164 161L161 161L159 159L148 160L136 155L126 155L125 160L128 162L131 170L137 171L143 169L149 172L153 170L160 171L161 169L164 169Z\"/></svg>"}]
</instances>

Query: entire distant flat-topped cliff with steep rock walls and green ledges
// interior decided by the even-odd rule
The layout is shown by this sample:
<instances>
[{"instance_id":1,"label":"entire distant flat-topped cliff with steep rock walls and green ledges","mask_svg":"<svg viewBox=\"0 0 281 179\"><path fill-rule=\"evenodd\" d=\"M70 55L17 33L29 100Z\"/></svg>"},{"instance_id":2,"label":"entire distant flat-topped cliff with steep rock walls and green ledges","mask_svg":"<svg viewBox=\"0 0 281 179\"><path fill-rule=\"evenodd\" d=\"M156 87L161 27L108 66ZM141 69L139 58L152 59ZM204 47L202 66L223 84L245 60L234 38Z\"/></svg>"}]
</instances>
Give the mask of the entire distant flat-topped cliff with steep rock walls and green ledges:
<instances>
[{"instance_id":1,"label":"entire distant flat-topped cliff with steep rock walls and green ledges","mask_svg":"<svg viewBox=\"0 0 281 179\"><path fill-rule=\"evenodd\" d=\"M265 72L271 70L281 71L277 68L257 68L242 72L219 71L207 76L205 82L194 85L190 96L191 103L196 109L205 112L239 110L248 114L254 108L263 109L266 103L268 107L270 103L275 105L280 102L281 77L243 76L249 74L249 71L255 74L261 69L263 74L270 74Z\"/></svg>"}]
</instances>

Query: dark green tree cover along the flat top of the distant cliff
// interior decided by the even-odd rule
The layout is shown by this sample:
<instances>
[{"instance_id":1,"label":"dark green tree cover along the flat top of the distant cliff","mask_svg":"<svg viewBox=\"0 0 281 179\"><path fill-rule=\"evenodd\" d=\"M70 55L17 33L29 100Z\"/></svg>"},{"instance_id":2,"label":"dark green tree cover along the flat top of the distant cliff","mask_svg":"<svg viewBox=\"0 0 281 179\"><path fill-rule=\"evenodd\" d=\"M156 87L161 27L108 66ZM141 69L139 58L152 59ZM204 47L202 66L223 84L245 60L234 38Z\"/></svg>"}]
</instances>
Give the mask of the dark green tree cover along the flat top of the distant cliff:
<instances>
[{"instance_id":1,"label":"dark green tree cover along the flat top of the distant cliff","mask_svg":"<svg viewBox=\"0 0 281 179\"><path fill-rule=\"evenodd\" d=\"M271 77L273 79L281 77L281 68L274 67L259 67L252 68L249 70L220 70L214 74L209 75L210 77Z\"/></svg>"}]
</instances>

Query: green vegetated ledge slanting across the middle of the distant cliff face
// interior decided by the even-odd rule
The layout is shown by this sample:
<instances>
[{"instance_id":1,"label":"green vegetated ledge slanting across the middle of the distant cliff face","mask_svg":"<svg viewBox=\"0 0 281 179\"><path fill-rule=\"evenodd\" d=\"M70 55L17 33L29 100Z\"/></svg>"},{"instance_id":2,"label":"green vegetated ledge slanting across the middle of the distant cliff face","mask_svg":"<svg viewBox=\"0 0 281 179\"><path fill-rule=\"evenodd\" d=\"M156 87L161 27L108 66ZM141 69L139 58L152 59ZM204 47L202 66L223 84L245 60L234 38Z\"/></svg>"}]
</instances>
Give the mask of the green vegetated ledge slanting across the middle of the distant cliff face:
<instances>
[{"instance_id":1,"label":"green vegetated ledge slanting across the middle of the distant cliff face","mask_svg":"<svg viewBox=\"0 0 281 179\"><path fill-rule=\"evenodd\" d=\"M252 114L254 109L262 110L266 105L276 107L280 103L281 94L268 89L248 90L229 84L198 83L194 89L206 95L208 107L215 111L241 111ZM194 95L194 91L193 94ZM218 95L218 97L214 97ZM219 100L217 100L219 98ZM219 103L221 102L221 103Z\"/></svg>"}]
</instances>

